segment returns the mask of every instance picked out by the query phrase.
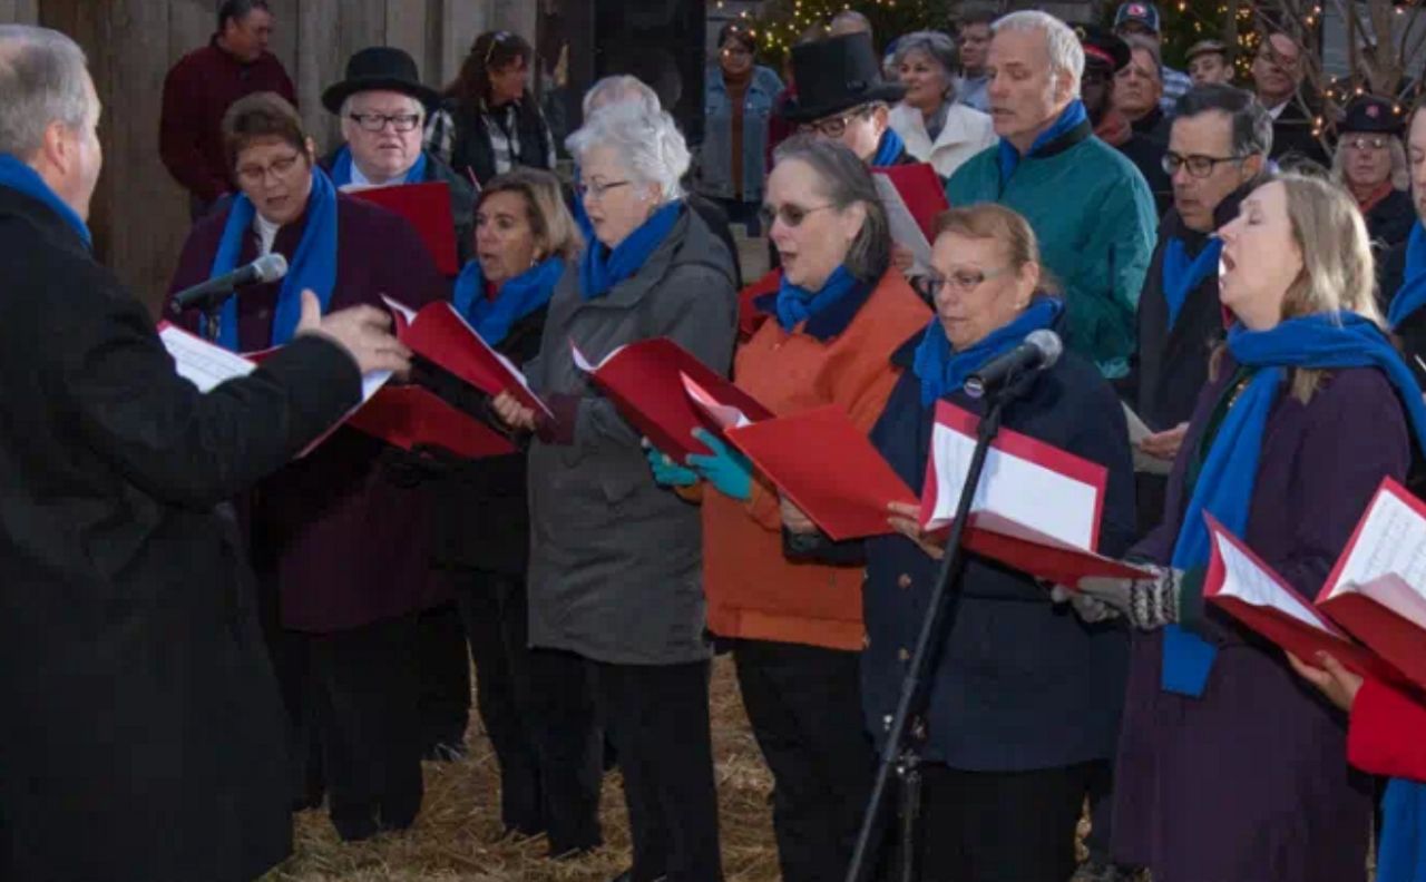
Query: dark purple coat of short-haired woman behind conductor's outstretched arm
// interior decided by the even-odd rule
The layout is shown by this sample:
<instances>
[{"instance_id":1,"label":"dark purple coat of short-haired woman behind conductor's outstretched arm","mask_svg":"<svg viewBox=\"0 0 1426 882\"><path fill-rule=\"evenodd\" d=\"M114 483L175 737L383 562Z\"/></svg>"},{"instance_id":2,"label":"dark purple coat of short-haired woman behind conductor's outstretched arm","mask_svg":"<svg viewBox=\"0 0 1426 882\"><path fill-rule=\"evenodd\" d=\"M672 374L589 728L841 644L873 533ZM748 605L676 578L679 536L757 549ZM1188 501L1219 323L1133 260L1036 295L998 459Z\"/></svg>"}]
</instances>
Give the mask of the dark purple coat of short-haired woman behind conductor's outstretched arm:
<instances>
[{"instance_id":1,"label":"dark purple coat of short-haired woman behind conductor's outstretched arm","mask_svg":"<svg viewBox=\"0 0 1426 882\"><path fill-rule=\"evenodd\" d=\"M446 296L419 235L406 221L338 195L337 288L329 309L381 306L381 295L419 306ZM208 278L227 209L202 219L184 245L173 291ZM307 218L277 234L274 251L291 262ZM248 232L238 265L257 258ZM279 284L238 295L238 341L264 349ZM197 326L197 316L188 316ZM262 482L251 497L252 563L279 593L284 627L328 633L399 616L438 600L428 571L429 487L394 467L394 447L355 429L338 429L307 457Z\"/></svg>"}]
</instances>

